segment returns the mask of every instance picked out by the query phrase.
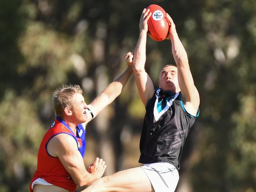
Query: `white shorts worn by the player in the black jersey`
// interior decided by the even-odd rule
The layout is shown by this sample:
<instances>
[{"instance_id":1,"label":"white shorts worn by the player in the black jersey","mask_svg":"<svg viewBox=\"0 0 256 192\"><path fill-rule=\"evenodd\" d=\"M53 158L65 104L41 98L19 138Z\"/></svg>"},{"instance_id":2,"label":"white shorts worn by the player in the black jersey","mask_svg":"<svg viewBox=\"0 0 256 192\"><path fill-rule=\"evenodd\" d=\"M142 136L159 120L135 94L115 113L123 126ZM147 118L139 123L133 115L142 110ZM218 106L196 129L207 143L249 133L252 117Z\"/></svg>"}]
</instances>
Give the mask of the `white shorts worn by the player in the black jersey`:
<instances>
[{"instance_id":1,"label":"white shorts worn by the player in the black jersey","mask_svg":"<svg viewBox=\"0 0 256 192\"><path fill-rule=\"evenodd\" d=\"M141 166L147 174L155 192L174 192L178 181L178 170L170 163L156 162Z\"/></svg>"}]
</instances>

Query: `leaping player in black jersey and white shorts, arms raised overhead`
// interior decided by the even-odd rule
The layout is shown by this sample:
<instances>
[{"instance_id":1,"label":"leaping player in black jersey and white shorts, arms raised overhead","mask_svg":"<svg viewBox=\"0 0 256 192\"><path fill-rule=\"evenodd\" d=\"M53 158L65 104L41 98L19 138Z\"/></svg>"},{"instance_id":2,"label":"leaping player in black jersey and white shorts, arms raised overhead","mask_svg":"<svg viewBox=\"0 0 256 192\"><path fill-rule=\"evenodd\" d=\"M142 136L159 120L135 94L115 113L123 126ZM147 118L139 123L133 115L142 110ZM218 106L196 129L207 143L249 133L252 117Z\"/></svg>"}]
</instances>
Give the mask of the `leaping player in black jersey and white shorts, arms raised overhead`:
<instances>
[{"instance_id":1,"label":"leaping player in black jersey and white shorts, arms raised overhead","mask_svg":"<svg viewBox=\"0 0 256 192\"><path fill-rule=\"evenodd\" d=\"M174 192L182 147L189 129L199 114L199 94L189 69L186 50L172 18L167 39L171 41L175 65L165 65L160 72L159 88L154 88L145 71L147 21L152 13L144 9L140 34L133 57L133 72L146 114L140 140L139 162L144 166L102 177L83 192ZM128 62L128 65L129 64Z\"/></svg>"}]
</instances>

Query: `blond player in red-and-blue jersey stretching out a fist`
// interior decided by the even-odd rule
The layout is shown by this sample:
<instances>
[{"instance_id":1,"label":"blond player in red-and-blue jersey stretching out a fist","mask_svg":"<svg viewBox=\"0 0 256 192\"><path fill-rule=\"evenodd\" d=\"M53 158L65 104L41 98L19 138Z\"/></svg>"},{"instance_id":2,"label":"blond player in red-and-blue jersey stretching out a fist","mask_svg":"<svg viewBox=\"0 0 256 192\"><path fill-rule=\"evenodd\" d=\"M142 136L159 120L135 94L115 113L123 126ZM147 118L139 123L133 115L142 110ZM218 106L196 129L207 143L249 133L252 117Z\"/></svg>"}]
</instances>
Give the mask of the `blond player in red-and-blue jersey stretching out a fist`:
<instances>
[{"instance_id":1,"label":"blond player in red-and-blue jersey stretching out a fist","mask_svg":"<svg viewBox=\"0 0 256 192\"><path fill-rule=\"evenodd\" d=\"M74 192L102 177L106 165L96 158L86 170L85 126L109 105L132 75L132 57L124 58L128 67L93 102L87 105L78 85L62 85L53 93L56 120L45 133L39 147L37 170L30 184L33 192Z\"/></svg>"}]
</instances>

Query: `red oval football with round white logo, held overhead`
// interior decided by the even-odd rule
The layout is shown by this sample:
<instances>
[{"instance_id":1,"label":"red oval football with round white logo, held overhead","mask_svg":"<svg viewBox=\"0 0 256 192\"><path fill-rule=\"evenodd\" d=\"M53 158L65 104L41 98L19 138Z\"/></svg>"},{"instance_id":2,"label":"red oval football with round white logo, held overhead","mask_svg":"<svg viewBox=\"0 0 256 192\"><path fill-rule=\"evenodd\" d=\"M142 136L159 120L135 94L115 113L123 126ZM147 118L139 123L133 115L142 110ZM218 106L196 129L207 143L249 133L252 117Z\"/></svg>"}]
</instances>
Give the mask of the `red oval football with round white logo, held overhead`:
<instances>
[{"instance_id":1,"label":"red oval football with round white logo, held overhead","mask_svg":"<svg viewBox=\"0 0 256 192\"><path fill-rule=\"evenodd\" d=\"M163 41L169 32L165 10L155 4L148 6L148 9L152 13L148 19L148 35L155 41Z\"/></svg>"}]
</instances>

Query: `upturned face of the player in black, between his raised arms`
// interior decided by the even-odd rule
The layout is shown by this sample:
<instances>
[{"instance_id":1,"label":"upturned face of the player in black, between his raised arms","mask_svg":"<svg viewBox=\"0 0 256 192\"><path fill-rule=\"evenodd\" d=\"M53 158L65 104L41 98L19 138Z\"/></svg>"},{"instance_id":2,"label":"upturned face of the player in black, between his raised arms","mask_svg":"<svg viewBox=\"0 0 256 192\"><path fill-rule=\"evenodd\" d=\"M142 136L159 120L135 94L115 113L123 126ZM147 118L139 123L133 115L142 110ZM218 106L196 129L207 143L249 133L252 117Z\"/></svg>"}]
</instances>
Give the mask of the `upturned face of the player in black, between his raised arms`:
<instances>
[{"instance_id":1,"label":"upturned face of the player in black, between his raised arms","mask_svg":"<svg viewBox=\"0 0 256 192\"><path fill-rule=\"evenodd\" d=\"M178 83L178 71L176 66L165 66L161 70L159 77L159 87L163 91L171 90L174 93L180 91Z\"/></svg>"}]
</instances>

